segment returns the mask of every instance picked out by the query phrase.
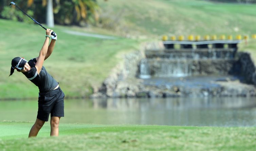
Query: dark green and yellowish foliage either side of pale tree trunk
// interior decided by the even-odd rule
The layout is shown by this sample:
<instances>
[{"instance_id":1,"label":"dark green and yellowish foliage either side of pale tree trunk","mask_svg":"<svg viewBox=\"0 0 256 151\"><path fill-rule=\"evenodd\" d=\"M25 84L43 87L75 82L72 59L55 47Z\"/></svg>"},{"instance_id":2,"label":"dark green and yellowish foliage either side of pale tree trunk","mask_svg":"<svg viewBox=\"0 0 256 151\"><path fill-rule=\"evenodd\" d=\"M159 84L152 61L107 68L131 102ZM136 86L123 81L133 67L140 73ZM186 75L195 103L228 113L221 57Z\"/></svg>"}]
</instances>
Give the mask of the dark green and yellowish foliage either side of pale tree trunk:
<instances>
[{"instance_id":1,"label":"dark green and yellowish foliage either side of pale tree trunk","mask_svg":"<svg viewBox=\"0 0 256 151\"><path fill-rule=\"evenodd\" d=\"M1 1L0 1L1 2ZM16 0L16 4L29 15L45 23L46 20L46 1ZM12 19L15 21L28 22L29 18L22 15L22 12L15 10L15 7L9 8L7 2L2 2L5 6L0 6L0 17ZM30 10L28 10L30 9ZM95 0L55 0L53 1L54 21L61 25L79 25L87 26L89 23L96 25L98 23L100 8Z\"/></svg>"}]
</instances>

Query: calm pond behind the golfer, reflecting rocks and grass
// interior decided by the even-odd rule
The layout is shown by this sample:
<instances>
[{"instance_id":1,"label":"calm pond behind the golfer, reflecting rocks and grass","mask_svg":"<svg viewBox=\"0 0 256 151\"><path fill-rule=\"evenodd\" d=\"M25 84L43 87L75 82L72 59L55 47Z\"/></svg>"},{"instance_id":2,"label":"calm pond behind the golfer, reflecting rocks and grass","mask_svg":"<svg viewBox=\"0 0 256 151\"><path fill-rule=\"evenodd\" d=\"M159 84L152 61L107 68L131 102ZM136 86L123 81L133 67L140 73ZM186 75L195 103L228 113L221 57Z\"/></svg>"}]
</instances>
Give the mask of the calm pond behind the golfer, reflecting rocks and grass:
<instances>
[{"instance_id":1,"label":"calm pond behind the golfer, reflecting rocks and grass","mask_svg":"<svg viewBox=\"0 0 256 151\"><path fill-rule=\"evenodd\" d=\"M37 101L0 101L0 121L35 121ZM65 100L61 123L256 126L256 98Z\"/></svg>"}]
</instances>

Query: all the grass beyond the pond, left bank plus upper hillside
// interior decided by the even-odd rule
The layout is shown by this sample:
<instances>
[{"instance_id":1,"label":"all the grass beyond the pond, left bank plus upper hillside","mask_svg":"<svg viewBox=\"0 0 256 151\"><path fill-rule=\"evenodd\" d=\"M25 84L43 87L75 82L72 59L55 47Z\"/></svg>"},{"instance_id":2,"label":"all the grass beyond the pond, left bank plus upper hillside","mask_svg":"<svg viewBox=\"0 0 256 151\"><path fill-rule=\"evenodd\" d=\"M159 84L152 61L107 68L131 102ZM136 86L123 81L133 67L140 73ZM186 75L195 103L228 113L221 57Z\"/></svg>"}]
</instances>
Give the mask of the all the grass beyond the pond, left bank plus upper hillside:
<instances>
[{"instance_id":1,"label":"all the grass beyond the pond, left bank plus upper hillside","mask_svg":"<svg viewBox=\"0 0 256 151\"><path fill-rule=\"evenodd\" d=\"M67 97L84 97L101 85L123 58L139 49L141 42L161 40L162 35L256 33L256 5L213 3L199 0L111 0L98 1L104 28L55 26L58 41L53 54L44 63L60 82ZM104 16L105 15L105 16ZM44 41L44 31L35 24L0 19L0 98L36 98L38 89L20 73L8 78L11 59L37 57ZM75 30L118 36L102 40L63 32ZM132 38L124 38L132 37ZM138 38L138 39L136 39ZM240 51L255 54L255 41Z\"/></svg>"}]
</instances>

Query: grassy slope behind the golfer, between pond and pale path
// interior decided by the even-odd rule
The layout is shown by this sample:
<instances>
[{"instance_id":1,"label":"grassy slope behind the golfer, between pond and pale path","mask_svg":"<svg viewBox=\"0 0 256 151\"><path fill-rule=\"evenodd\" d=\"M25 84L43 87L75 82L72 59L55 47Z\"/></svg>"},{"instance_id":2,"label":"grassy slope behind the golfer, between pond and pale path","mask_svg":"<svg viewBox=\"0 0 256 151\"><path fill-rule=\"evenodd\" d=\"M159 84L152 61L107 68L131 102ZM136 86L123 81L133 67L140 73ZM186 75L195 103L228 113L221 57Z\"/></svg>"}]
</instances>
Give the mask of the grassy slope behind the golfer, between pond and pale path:
<instances>
[{"instance_id":1,"label":"grassy slope behind the golfer, between pond and pale path","mask_svg":"<svg viewBox=\"0 0 256 151\"><path fill-rule=\"evenodd\" d=\"M38 88L24 75L10 74L11 60L16 56L29 60L39 55L45 31L38 25L0 20L0 98L37 97ZM138 48L138 41L119 38L103 40L63 32L69 27L54 28L58 40L53 54L44 62L48 72L60 82L69 97L87 96L100 86L109 72L122 60L125 52ZM11 32L11 34L10 34Z\"/></svg>"}]
</instances>

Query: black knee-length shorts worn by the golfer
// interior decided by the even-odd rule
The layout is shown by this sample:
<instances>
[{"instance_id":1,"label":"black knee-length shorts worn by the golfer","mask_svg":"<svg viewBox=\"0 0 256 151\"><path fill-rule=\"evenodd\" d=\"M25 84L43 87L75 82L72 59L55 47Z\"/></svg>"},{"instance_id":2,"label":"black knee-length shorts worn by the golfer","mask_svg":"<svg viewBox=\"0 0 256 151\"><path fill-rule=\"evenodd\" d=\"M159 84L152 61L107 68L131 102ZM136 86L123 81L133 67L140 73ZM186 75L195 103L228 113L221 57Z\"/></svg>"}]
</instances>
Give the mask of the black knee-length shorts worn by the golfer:
<instances>
[{"instance_id":1,"label":"black knee-length shorts worn by the golfer","mask_svg":"<svg viewBox=\"0 0 256 151\"><path fill-rule=\"evenodd\" d=\"M51 117L64 117L64 97L60 87L47 94L39 94L37 118L47 122L50 113Z\"/></svg>"}]
</instances>

